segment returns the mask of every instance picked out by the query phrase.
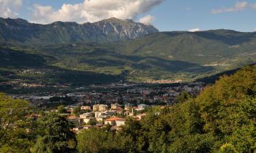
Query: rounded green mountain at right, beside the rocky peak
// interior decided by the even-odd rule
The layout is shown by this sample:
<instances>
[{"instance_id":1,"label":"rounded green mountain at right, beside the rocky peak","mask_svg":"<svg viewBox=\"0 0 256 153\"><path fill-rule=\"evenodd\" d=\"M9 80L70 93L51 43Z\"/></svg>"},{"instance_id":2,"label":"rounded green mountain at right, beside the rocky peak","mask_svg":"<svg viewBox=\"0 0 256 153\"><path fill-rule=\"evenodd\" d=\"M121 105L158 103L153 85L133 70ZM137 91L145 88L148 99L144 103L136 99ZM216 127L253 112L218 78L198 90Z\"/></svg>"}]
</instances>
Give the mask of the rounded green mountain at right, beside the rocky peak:
<instances>
[{"instance_id":1,"label":"rounded green mountain at right, beside the rocky peak","mask_svg":"<svg viewBox=\"0 0 256 153\"><path fill-rule=\"evenodd\" d=\"M154 33L115 46L122 54L208 64L255 52L256 33L227 30Z\"/></svg>"}]
</instances>

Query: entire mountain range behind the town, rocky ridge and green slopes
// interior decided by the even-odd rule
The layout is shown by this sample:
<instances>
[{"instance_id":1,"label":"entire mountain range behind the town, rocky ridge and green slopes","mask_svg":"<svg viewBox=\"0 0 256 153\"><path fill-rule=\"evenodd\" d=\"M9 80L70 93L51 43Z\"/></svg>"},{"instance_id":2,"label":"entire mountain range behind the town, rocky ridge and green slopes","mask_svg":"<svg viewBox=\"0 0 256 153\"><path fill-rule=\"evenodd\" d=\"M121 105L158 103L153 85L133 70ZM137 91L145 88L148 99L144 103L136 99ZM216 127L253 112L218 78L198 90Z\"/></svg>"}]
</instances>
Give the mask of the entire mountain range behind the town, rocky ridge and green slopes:
<instances>
[{"instance_id":1,"label":"entire mountain range behind the town, rocky ridge and green slopes","mask_svg":"<svg viewBox=\"0 0 256 153\"><path fill-rule=\"evenodd\" d=\"M0 82L190 82L256 61L256 33L159 32L117 18L46 25L1 18L0 42Z\"/></svg>"}]
</instances>

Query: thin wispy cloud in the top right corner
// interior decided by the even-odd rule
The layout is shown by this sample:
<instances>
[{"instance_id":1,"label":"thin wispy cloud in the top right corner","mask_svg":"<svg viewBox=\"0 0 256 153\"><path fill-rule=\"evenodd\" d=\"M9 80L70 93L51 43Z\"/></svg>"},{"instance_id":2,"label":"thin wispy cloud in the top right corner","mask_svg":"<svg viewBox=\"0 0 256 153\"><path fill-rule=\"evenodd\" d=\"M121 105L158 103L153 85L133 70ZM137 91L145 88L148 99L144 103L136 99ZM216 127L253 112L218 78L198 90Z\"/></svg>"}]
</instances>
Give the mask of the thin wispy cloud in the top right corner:
<instances>
[{"instance_id":1,"label":"thin wispy cloud in the top right corner","mask_svg":"<svg viewBox=\"0 0 256 153\"><path fill-rule=\"evenodd\" d=\"M247 1L237 2L233 7L212 10L212 13L221 14L225 12L238 12L245 9L256 9L256 3L248 3Z\"/></svg>"}]
</instances>

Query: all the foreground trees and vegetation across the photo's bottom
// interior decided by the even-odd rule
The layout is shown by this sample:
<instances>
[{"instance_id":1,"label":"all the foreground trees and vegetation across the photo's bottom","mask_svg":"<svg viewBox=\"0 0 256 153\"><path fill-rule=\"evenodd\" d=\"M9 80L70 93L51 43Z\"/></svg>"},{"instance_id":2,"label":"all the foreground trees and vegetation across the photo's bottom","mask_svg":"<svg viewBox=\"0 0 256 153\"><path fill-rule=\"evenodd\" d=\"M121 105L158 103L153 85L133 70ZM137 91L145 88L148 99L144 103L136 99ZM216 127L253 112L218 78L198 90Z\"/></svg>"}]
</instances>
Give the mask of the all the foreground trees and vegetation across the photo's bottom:
<instances>
[{"instance_id":1,"label":"all the foreground trees and vegetation across the photo's bottom","mask_svg":"<svg viewBox=\"0 0 256 153\"><path fill-rule=\"evenodd\" d=\"M255 85L256 66L244 67L196 98L182 95L172 107L147 109L141 121L127 118L121 131L106 126L76 135L65 118L43 113L38 120L25 118L33 113L28 103L0 94L0 118L10 122L8 129L0 128L0 152L255 152Z\"/></svg>"}]
</instances>

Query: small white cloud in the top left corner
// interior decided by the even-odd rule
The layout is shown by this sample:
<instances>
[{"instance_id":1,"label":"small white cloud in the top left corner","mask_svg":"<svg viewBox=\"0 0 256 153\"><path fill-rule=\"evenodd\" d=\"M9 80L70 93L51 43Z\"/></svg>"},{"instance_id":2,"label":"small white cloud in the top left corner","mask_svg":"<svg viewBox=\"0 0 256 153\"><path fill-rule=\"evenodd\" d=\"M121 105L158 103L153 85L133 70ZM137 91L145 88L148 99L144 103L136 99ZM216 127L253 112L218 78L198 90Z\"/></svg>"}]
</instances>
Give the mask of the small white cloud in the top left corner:
<instances>
[{"instance_id":1,"label":"small white cloud in the top left corner","mask_svg":"<svg viewBox=\"0 0 256 153\"><path fill-rule=\"evenodd\" d=\"M2 18L15 18L23 5L22 0L0 0L0 16Z\"/></svg>"}]
</instances>

